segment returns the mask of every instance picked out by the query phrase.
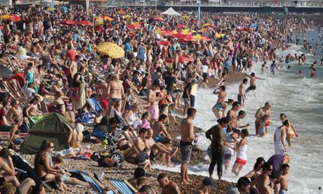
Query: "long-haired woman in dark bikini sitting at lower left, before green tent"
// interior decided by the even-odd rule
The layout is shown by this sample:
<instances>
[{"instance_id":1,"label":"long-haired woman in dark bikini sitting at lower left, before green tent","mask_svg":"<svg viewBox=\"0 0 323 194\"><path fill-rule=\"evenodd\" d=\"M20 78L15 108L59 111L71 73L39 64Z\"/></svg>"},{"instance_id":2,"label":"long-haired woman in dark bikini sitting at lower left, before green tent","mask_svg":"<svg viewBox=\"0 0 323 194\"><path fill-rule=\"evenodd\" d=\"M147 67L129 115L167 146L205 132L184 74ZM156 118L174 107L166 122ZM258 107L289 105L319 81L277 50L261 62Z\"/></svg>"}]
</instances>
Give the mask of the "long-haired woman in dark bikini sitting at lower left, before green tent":
<instances>
[{"instance_id":1,"label":"long-haired woman in dark bikini sitting at lower left, before green tent","mask_svg":"<svg viewBox=\"0 0 323 194\"><path fill-rule=\"evenodd\" d=\"M67 192L67 186L62 182L62 169L55 169L51 152L54 150L54 143L52 141L44 140L38 153L35 155L34 169L35 172L41 177L42 181L55 180L58 183L58 188L63 192Z\"/></svg>"}]
</instances>

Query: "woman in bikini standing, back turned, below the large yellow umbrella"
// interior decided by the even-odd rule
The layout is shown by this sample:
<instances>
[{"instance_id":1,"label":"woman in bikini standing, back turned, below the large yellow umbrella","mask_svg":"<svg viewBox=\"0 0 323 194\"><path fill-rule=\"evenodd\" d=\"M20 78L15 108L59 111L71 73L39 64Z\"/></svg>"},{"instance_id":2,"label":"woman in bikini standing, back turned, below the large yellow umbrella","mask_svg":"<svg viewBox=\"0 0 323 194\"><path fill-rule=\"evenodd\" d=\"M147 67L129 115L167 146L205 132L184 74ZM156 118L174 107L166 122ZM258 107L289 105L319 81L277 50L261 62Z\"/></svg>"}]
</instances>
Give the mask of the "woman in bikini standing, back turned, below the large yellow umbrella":
<instances>
[{"instance_id":1,"label":"woman in bikini standing, back turned, below the large yellow umbrella","mask_svg":"<svg viewBox=\"0 0 323 194\"><path fill-rule=\"evenodd\" d=\"M117 74L112 75L107 83L107 93L109 96L109 108L107 113L110 114L112 105L117 112L121 112L121 100L124 98L124 86L122 86Z\"/></svg>"}]
</instances>

